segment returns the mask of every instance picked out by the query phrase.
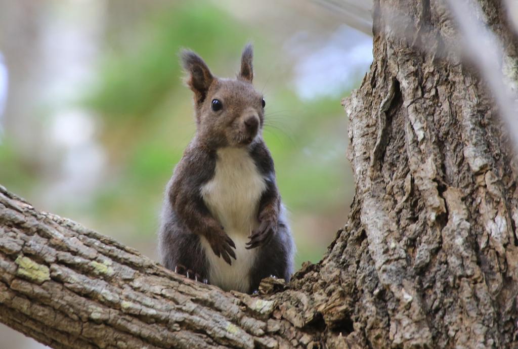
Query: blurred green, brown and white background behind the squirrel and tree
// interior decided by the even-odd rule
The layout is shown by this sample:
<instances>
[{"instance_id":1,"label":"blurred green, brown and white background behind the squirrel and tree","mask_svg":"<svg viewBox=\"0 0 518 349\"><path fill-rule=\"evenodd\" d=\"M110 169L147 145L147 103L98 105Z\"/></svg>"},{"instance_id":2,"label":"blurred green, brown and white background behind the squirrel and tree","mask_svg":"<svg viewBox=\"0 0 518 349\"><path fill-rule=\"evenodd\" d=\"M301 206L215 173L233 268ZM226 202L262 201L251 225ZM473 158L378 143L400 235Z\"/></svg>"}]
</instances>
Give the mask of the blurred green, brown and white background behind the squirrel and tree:
<instances>
[{"instance_id":1,"label":"blurred green, brown and white background behind the squirrel and tree","mask_svg":"<svg viewBox=\"0 0 518 349\"><path fill-rule=\"evenodd\" d=\"M234 77L252 41L297 268L317 262L354 190L340 100L372 60L368 26L344 18L309 0L0 0L0 184L156 260L164 188L195 130L178 51Z\"/></svg>"}]
</instances>

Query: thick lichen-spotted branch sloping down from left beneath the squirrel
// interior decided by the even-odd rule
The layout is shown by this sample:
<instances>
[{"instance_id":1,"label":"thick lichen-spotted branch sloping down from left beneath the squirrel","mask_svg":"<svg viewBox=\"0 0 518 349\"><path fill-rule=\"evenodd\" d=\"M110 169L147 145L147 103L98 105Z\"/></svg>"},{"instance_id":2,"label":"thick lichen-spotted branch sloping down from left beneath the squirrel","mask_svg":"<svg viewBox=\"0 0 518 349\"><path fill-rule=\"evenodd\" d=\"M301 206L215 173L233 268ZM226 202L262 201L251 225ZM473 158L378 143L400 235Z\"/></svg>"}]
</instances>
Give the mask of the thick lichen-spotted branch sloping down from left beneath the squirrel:
<instances>
[{"instance_id":1,"label":"thick lichen-spotted branch sloping down from left beneath the squirrel","mask_svg":"<svg viewBox=\"0 0 518 349\"><path fill-rule=\"evenodd\" d=\"M274 314L276 299L181 277L113 239L36 211L0 186L0 321L41 343L291 347L304 333Z\"/></svg>"}]
</instances>

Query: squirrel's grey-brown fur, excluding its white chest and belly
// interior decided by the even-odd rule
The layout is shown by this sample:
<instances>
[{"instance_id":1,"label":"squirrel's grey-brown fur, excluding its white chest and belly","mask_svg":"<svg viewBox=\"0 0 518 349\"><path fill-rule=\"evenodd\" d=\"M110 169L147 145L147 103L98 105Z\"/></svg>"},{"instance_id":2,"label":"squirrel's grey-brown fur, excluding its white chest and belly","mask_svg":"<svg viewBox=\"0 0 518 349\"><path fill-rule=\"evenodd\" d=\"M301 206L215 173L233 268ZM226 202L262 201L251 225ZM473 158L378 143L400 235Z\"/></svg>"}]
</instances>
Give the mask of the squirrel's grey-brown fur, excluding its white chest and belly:
<instances>
[{"instance_id":1,"label":"squirrel's grey-brown fur, excluding its white chest and belly","mask_svg":"<svg viewBox=\"0 0 518 349\"><path fill-rule=\"evenodd\" d=\"M252 47L242 53L241 69L236 80L214 77L205 62L192 51L181 54L188 73L186 84L194 92L196 135L169 181L159 232L162 261L166 267L178 265L192 270L210 282L209 268L199 237L209 242L212 252L229 265L236 258L235 244L220 222L213 217L200 188L214 176L217 151L239 147L253 159L257 172L266 184L257 207L258 227L250 235L247 249L259 249L251 270L251 285L258 287L264 277L274 274L289 278L293 271L294 244L275 181L274 163L262 138L264 124L263 96L252 86ZM223 104L212 109L212 101ZM239 260L237 261L239 263Z\"/></svg>"}]
</instances>

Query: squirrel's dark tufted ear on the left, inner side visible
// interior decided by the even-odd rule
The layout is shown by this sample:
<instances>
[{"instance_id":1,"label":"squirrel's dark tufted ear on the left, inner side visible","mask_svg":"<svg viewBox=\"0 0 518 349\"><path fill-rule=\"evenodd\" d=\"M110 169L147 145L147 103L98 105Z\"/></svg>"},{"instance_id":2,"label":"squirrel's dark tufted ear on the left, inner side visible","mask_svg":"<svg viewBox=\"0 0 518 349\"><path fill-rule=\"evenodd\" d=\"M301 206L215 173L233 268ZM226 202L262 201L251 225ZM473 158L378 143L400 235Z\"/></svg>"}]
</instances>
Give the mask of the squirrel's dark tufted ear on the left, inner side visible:
<instances>
[{"instance_id":1,"label":"squirrel's dark tufted ear on the left, inner side visible","mask_svg":"<svg viewBox=\"0 0 518 349\"><path fill-rule=\"evenodd\" d=\"M180 56L183 68L188 74L185 78L185 83L193 90L196 103L202 103L205 97L207 97L207 91L214 77L207 64L202 60L202 57L193 51L182 50Z\"/></svg>"}]
</instances>

